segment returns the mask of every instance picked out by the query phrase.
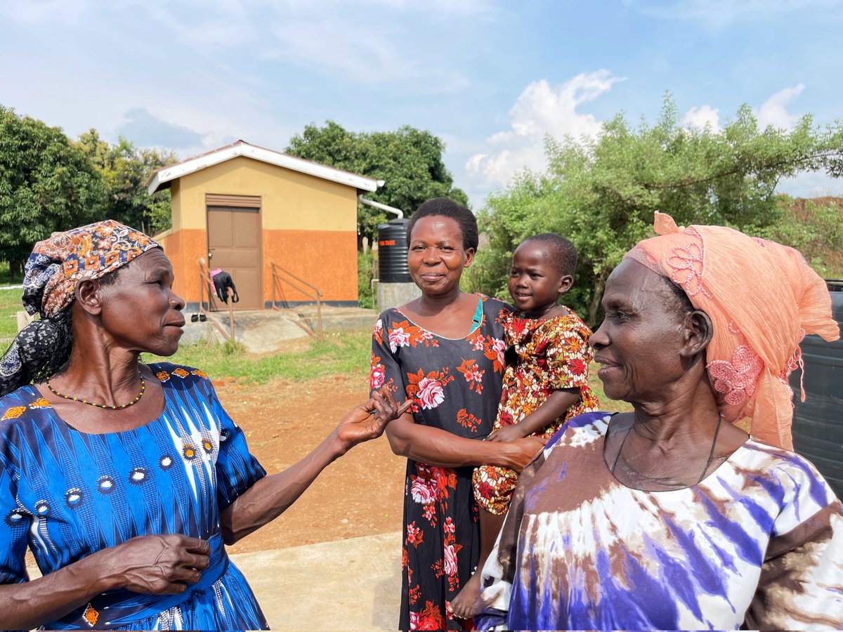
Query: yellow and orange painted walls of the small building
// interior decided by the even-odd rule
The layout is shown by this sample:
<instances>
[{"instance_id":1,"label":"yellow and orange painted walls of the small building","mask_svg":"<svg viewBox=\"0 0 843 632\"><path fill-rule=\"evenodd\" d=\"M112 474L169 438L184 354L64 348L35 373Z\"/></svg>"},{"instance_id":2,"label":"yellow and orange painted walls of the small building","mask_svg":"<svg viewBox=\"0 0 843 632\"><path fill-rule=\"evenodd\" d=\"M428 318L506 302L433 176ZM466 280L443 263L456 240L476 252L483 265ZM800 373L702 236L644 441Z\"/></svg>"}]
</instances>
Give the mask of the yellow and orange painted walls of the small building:
<instances>
[{"instance_id":1,"label":"yellow and orange painted walls of the small building","mask_svg":"<svg viewBox=\"0 0 843 632\"><path fill-rule=\"evenodd\" d=\"M323 300L357 302L357 190L239 156L176 179L170 186L173 228L163 233L175 292L199 297L196 260L207 260L206 194L260 195L263 301L271 301L270 261L324 292ZM287 287L287 301L307 301Z\"/></svg>"}]
</instances>

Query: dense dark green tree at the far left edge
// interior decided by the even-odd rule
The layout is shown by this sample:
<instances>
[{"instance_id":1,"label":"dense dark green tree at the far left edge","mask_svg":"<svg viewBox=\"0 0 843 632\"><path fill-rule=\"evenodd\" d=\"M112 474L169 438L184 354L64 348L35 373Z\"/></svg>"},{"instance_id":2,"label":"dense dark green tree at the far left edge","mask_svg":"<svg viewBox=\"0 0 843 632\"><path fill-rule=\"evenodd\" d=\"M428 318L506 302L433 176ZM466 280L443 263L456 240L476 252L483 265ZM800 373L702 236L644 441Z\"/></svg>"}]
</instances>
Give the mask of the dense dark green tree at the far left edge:
<instances>
[{"instance_id":1,"label":"dense dark green tree at the far left edge","mask_svg":"<svg viewBox=\"0 0 843 632\"><path fill-rule=\"evenodd\" d=\"M0 260L15 274L32 244L104 217L105 185L58 127L0 105Z\"/></svg>"}]
</instances>

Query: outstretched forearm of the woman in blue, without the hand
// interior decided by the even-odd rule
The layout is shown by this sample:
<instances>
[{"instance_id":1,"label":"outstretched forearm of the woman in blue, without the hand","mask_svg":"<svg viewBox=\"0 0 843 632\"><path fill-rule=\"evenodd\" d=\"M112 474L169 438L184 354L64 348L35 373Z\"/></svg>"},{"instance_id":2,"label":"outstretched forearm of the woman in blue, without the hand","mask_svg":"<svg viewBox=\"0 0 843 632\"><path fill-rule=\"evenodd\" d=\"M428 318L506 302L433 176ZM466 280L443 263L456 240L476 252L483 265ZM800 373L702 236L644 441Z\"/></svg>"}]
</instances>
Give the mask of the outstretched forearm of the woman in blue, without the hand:
<instances>
[{"instance_id":1,"label":"outstretched forearm of the woman in blue, without the hand","mask_svg":"<svg viewBox=\"0 0 843 632\"><path fill-rule=\"evenodd\" d=\"M244 491L223 511L225 544L234 544L287 511L322 470L345 454L348 447L336 437L336 431L332 432L298 463L260 479Z\"/></svg>"}]
</instances>

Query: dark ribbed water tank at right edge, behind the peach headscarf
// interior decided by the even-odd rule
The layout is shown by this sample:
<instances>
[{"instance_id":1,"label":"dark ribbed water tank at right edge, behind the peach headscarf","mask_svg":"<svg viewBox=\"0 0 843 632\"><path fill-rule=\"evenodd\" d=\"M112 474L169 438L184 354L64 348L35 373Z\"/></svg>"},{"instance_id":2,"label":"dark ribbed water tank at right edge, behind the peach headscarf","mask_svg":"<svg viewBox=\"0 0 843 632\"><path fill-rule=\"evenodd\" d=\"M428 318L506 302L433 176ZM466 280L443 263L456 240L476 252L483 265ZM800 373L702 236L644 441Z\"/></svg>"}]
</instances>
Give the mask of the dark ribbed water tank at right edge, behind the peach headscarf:
<instances>
[{"instance_id":1,"label":"dark ribbed water tank at right edge, behind the peach headscarf","mask_svg":"<svg viewBox=\"0 0 843 632\"><path fill-rule=\"evenodd\" d=\"M831 311L843 323L843 281L827 281ZM799 401L799 371L791 373L793 449L819 469L843 498L843 340L826 342L819 335L802 341L805 401Z\"/></svg>"}]
</instances>

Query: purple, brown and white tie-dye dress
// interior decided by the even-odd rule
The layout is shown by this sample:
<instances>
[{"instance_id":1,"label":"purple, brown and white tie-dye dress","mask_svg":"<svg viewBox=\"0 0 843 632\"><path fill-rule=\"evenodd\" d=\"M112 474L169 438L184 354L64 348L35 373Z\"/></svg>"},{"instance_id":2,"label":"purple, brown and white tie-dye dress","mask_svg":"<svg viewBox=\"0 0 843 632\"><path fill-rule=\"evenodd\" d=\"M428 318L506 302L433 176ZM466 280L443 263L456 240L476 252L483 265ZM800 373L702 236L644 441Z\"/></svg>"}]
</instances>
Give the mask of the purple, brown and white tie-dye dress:
<instances>
[{"instance_id":1,"label":"purple, brown and white tie-dye dress","mask_svg":"<svg viewBox=\"0 0 843 632\"><path fill-rule=\"evenodd\" d=\"M480 629L843 627L843 505L808 461L749 439L697 485L633 490L604 463L609 418L524 469Z\"/></svg>"}]
</instances>

